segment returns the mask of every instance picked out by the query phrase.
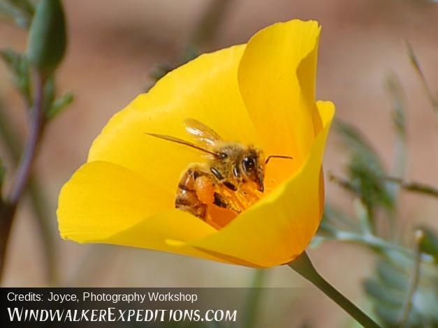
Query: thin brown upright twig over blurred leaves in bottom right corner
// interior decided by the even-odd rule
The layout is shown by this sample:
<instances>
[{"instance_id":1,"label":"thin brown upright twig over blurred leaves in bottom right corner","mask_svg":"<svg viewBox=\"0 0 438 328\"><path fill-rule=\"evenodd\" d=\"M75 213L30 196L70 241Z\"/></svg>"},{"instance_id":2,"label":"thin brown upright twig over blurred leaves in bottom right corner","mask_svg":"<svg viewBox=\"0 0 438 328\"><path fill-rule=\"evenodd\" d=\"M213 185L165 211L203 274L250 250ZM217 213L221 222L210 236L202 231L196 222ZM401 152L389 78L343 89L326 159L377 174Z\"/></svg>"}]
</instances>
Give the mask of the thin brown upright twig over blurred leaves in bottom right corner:
<instances>
[{"instance_id":1,"label":"thin brown upright twig over blurred leaves in bottom right corner","mask_svg":"<svg viewBox=\"0 0 438 328\"><path fill-rule=\"evenodd\" d=\"M409 289L407 290L406 298L402 306L402 311L400 312L400 318L398 320L399 325L397 327L409 327L409 314L412 311L412 306L414 303L414 295L418 288L418 283L420 282L420 267L421 267L421 251L420 243L424 238L423 230L417 230L415 232L415 257L414 257L414 271L412 273L411 283Z\"/></svg>"}]
</instances>

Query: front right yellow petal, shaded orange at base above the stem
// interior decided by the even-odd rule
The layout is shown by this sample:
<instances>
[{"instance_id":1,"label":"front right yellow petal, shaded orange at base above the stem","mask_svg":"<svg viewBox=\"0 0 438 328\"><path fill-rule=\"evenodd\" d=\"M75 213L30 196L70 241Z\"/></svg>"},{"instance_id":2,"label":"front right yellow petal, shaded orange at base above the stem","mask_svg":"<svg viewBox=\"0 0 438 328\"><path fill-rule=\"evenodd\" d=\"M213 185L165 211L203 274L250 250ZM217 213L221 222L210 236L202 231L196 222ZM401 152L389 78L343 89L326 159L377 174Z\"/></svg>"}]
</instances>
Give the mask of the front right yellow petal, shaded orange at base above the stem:
<instances>
[{"instance_id":1,"label":"front right yellow petal, shaded orange at base above the stem","mask_svg":"<svg viewBox=\"0 0 438 328\"><path fill-rule=\"evenodd\" d=\"M318 102L323 130L300 170L216 234L190 244L261 267L284 264L302 253L321 221L320 171L335 108Z\"/></svg>"}]
</instances>

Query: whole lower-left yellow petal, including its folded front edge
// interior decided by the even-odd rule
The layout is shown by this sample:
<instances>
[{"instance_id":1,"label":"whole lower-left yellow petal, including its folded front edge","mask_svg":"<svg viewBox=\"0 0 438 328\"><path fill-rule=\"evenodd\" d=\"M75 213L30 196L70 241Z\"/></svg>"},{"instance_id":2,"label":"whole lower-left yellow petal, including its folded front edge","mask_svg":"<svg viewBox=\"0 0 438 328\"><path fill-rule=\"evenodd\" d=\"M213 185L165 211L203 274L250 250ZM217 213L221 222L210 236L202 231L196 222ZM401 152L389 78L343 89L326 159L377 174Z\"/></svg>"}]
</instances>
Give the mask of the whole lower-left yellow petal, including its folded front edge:
<instances>
[{"instance_id":1,"label":"whole lower-left yellow petal, including its folded front edge","mask_svg":"<svg viewBox=\"0 0 438 328\"><path fill-rule=\"evenodd\" d=\"M64 239L118 244L221 260L184 245L216 232L173 208L166 191L107 162L82 165L62 188L57 211Z\"/></svg>"}]
</instances>

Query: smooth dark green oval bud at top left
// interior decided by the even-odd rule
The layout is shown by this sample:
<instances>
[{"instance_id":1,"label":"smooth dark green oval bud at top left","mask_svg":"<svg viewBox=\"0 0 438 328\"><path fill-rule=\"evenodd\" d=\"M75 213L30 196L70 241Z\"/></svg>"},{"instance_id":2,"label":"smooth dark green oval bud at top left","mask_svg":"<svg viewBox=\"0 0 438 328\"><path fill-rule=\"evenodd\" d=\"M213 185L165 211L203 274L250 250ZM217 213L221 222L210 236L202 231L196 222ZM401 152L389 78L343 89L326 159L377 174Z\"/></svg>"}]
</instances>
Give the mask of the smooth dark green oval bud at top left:
<instances>
[{"instance_id":1,"label":"smooth dark green oval bud at top left","mask_svg":"<svg viewBox=\"0 0 438 328\"><path fill-rule=\"evenodd\" d=\"M44 77L48 77L61 63L66 45L66 20L61 1L41 0L29 30L29 61Z\"/></svg>"}]
</instances>

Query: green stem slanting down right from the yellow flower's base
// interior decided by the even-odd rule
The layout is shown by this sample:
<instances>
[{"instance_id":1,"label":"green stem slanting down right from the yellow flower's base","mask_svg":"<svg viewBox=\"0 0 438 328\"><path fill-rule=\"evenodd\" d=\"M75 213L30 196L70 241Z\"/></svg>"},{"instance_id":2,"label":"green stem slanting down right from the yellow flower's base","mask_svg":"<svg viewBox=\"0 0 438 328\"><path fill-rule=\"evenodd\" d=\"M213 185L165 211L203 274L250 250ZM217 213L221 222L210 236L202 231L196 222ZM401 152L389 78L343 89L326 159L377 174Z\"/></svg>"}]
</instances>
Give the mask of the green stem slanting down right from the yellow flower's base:
<instances>
[{"instance_id":1,"label":"green stem slanting down right from the yellow flower's base","mask_svg":"<svg viewBox=\"0 0 438 328\"><path fill-rule=\"evenodd\" d=\"M332 301L344 309L351 317L353 317L360 325L363 327L377 327L374 320L372 320L368 315L360 310L356 305L354 305L349 299L344 297L340 292L338 292L333 285L330 285L326 279L324 279L312 264L309 256L306 252L302 253L298 258L289 262L289 267L291 267L295 272L300 274L300 276L306 278L308 281L313 283L316 288L321 290L326 296L328 296Z\"/></svg>"}]
</instances>

